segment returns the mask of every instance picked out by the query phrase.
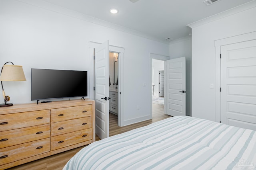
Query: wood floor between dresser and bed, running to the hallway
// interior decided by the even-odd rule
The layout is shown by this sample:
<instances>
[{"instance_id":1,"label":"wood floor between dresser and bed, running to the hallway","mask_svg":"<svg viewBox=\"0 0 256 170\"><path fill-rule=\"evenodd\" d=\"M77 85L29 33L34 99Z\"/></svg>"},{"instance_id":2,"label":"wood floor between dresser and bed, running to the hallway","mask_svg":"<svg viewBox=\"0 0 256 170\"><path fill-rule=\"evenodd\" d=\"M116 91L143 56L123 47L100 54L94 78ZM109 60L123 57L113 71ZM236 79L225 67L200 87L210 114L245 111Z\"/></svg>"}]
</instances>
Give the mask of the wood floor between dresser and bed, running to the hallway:
<instances>
[{"instance_id":1,"label":"wood floor between dresser and bed, running to the hallway","mask_svg":"<svg viewBox=\"0 0 256 170\"><path fill-rule=\"evenodd\" d=\"M162 119L166 119L170 117L169 115L164 114L164 106L158 104L152 104L152 119L143 121L140 123L135 123L132 125L119 127L117 125L117 116L110 113L109 115L109 133L110 136L120 134L126 131L130 131L132 129L136 129L138 127L143 127L149 125L153 122L160 121ZM96 141L100 140L98 136L96 136ZM79 147L76 149L68 150L59 154L55 154L52 156L48 156L46 158L42 158L39 160L35 160L32 162L28 162L26 164L22 164L20 166L15 166L13 168L9 168L8 170L62 170L64 165L74 156L79 150L83 147Z\"/></svg>"}]
</instances>

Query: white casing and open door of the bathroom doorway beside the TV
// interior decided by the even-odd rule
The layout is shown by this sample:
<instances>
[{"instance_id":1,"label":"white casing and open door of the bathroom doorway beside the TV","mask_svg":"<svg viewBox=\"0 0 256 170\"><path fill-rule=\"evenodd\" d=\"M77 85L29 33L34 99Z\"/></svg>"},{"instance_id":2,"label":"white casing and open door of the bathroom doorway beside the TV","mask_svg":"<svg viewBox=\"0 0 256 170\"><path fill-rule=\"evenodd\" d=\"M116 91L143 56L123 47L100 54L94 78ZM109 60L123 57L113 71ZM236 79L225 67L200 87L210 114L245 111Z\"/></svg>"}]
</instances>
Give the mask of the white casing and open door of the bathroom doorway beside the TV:
<instances>
[{"instance_id":1,"label":"white casing and open door of the bathroom doorway beside the TV","mask_svg":"<svg viewBox=\"0 0 256 170\"><path fill-rule=\"evenodd\" d=\"M99 48L106 44L105 49L99 51ZM92 67L93 76L90 76L90 94L93 94L93 97L90 98L95 100L96 106L96 135L100 139L104 139L109 136L109 103L111 98L109 96L109 52L118 53L118 126L123 126L123 115L124 108L122 100L122 90L124 89L123 83L123 68L124 68L124 48L117 47L113 45L108 45L108 41L105 43L96 43L89 42L90 46L90 56L92 56L94 67ZM95 51L95 53L94 53ZM98 52L97 52L98 51ZM102 57L99 57L102 55ZM104 62L102 62L104 59ZM103 66L99 66L98 63L103 64L105 71L102 70ZM96 70L98 69L98 70ZM104 77L104 82L103 82ZM98 80L98 81L96 81ZM101 91L100 91L101 90ZM97 97L98 96L98 97ZM104 106L102 105L104 103ZM104 109L104 110L103 110Z\"/></svg>"}]
</instances>

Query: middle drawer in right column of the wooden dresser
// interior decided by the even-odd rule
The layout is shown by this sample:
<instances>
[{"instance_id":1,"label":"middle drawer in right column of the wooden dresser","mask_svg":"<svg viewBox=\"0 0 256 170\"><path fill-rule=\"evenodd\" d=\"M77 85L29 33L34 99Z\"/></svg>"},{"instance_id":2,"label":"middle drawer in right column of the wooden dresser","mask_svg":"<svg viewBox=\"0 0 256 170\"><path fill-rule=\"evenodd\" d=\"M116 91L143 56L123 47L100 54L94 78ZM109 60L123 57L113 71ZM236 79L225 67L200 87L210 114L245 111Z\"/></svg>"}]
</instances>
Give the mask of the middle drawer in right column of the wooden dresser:
<instances>
[{"instance_id":1,"label":"middle drawer in right column of the wooden dresser","mask_svg":"<svg viewBox=\"0 0 256 170\"><path fill-rule=\"evenodd\" d=\"M62 135L82 129L88 129L92 127L92 117L82 117L79 119L66 120L52 123L51 136Z\"/></svg>"}]
</instances>

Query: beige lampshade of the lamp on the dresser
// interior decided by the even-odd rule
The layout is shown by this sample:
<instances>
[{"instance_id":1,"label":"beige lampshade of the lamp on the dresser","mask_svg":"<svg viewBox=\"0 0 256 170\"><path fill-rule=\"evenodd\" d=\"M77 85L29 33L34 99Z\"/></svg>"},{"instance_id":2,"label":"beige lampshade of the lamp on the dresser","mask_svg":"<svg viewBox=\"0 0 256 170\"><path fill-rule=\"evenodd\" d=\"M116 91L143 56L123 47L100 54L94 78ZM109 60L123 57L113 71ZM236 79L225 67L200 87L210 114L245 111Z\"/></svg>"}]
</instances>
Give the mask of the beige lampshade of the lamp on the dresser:
<instances>
[{"instance_id":1,"label":"beige lampshade of the lamp on the dresser","mask_svg":"<svg viewBox=\"0 0 256 170\"><path fill-rule=\"evenodd\" d=\"M0 76L1 81L26 81L22 66L4 65Z\"/></svg>"}]
</instances>

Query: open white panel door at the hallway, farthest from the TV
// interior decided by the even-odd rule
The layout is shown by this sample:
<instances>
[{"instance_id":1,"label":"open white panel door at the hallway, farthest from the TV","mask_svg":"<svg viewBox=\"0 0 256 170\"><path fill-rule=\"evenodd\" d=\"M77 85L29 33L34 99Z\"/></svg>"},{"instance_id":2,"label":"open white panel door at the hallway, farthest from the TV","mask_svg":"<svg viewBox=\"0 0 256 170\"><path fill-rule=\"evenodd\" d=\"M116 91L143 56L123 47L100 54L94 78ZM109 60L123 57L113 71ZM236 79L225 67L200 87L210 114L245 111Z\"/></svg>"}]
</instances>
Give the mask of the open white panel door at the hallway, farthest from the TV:
<instances>
[{"instance_id":1,"label":"open white panel door at the hallway, farthest from the TV","mask_svg":"<svg viewBox=\"0 0 256 170\"><path fill-rule=\"evenodd\" d=\"M186 58L166 61L166 114L186 115Z\"/></svg>"}]
</instances>

